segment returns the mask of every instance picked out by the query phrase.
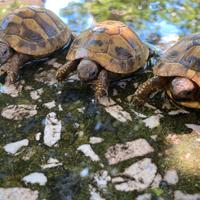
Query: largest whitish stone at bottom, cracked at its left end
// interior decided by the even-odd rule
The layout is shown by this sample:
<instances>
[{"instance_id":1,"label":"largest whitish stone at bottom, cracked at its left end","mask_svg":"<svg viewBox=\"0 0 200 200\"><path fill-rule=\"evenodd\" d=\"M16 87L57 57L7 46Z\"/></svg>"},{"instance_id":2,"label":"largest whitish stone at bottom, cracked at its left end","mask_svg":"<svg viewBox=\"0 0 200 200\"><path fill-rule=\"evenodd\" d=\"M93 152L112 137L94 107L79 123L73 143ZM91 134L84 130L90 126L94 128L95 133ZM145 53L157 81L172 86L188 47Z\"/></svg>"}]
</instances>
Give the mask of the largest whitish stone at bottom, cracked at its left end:
<instances>
[{"instance_id":1,"label":"largest whitish stone at bottom, cracked at its left end","mask_svg":"<svg viewBox=\"0 0 200 200\"><path fill-rule=\"evenodd\" d=\"M115 183L115 189L119 191L143 191L147 189L155 178L157 166L152 163L150 158L144 158L130 167L126 168L120 174L121 180L116 182L116 178L112 179Z\"/></svg>"}]
</instances>

